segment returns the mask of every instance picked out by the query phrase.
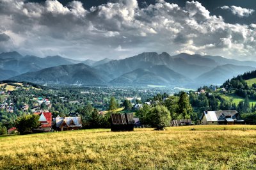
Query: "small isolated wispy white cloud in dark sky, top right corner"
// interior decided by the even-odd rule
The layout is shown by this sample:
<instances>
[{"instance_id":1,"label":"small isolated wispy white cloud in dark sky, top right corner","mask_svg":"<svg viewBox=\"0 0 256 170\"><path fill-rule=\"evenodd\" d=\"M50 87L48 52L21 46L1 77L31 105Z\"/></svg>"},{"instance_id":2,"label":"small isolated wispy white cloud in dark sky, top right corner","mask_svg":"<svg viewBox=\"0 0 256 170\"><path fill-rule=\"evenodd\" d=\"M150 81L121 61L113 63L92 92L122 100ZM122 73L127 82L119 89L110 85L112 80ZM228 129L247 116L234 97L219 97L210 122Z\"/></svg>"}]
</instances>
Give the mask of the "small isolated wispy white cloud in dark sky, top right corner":
<instances>
[{"instance_id":1,"label":"small isolated wispy white cloud in dark sky, top right corner","mask_svg":"<svg viewBox=\"0 0 256 170\"><path fill-rule=\"evenodd\" d=\"M240 6L221 6L222 10L230 10L234 15L237 15L238 17L249 17L252 15L255 10L253 9L247 9L247 8L241 8Z\"/></svg>"}]
</instances>

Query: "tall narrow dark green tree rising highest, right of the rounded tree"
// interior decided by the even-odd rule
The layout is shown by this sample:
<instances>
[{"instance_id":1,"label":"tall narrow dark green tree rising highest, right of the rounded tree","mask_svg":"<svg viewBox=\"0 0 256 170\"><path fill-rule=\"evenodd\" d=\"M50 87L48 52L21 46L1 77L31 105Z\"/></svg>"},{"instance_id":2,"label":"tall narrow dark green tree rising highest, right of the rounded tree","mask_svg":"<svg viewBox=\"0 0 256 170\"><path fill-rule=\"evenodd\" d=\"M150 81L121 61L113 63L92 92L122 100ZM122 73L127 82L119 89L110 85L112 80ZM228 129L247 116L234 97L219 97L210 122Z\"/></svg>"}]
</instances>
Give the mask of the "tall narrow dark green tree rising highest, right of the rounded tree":
<instances>
[{"instance_id":1,"label":"tall narrow dark green tree rising highest, right of the rounded tree","mask_svg":"<svg viewBox=\"0 0 256 170\"><path fill-rule=\"evenodd\" d=\"M185 119L185 117L187 115L189 115L191 112L193 112L191 104L189 104L188 95L184 91L182 91L180 93L178 105L179 105L178 112L179 112L179 114L182 115L183 119Z\"/></svg>"}]
</instances>

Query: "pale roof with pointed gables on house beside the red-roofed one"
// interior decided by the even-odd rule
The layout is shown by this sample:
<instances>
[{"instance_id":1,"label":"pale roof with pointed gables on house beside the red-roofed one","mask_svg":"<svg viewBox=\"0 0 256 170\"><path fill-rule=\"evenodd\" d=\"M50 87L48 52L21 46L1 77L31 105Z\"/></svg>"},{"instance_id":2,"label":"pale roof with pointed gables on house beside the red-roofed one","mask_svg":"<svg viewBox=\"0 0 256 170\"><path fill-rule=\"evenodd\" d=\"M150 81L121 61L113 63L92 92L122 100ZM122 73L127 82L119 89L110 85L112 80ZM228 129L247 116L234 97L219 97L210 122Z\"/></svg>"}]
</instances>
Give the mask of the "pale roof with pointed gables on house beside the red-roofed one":
<instances>
[{"instance_id":1,"label":"pale roof with pointed gables on house beside the red-roofed one","mask_svg":"<svg viewBox=\"0 0 256 170\"><path fill-rule=\"evenodd\" d=\"M56 118L57 128L67 127L82 127L81 117L57 117Z\"/></svg>"}]
</instances>

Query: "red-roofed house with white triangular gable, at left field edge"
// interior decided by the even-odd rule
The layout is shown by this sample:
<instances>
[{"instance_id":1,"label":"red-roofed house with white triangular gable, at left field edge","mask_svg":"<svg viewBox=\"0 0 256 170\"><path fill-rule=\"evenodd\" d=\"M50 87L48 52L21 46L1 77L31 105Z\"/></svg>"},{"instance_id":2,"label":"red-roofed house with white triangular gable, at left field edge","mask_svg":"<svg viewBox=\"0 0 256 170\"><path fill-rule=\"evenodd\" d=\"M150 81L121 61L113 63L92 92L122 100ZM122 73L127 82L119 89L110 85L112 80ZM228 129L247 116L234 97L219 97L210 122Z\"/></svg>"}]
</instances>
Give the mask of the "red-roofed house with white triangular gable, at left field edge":
<instances>
[{"instance_id":1,"label":"red-roofed house with white triangular gable, at left field edge","mask_svg":"<svg viewBox=\"0 0 256 170\"><path fill-rule=\"evenodd\" d=\"M40 116L39 121L41 123L40 127L34 129L42 132L51 132L52 129L52 113L51 112L35 112Z\"/></svg>"}]
</instances>

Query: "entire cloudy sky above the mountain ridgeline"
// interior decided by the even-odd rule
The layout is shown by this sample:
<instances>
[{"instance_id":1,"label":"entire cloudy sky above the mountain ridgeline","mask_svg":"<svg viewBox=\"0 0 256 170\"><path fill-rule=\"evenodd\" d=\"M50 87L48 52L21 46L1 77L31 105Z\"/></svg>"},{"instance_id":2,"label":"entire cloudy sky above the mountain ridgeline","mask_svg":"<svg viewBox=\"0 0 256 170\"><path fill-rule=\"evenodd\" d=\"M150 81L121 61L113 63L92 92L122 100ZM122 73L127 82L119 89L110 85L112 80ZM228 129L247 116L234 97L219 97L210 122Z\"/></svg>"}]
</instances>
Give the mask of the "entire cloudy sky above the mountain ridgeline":
<instances>
[{"instance_id":1,"label":"entire cloudy sky above the mountain ridgeline","mask_svg":"<svg viewBox=\"0 0 256 170\"><path fill-rule=\"evenodd\" d=\"M256 1L0 0L0 52L123 59L182 52L256 59Z\"/></svg>"}]
</instances>

